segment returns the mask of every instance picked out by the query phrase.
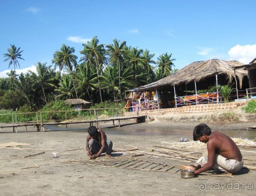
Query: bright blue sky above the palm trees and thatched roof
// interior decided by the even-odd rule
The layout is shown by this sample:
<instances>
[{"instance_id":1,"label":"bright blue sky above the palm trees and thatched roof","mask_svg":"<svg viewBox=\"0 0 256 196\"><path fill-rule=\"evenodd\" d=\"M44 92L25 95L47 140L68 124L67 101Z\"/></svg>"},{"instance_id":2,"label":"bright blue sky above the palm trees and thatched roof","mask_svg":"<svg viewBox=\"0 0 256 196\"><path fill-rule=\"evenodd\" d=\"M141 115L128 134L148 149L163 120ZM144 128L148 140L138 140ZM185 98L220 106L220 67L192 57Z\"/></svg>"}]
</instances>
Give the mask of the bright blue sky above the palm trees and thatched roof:
<instances>
[{"instance_id":1,"label":"bright blue sky above the palm trees and thatched roof","mask_svg":"<svg viewBox=\"0 0 256 196\"><path fill-rule=\"evenodd\" d=\"M17 73L51 65L62 44L75 48L97 36L149 50L154 60L172 53L175 68L213 58L249 63L256 57L254 0L1 0L0 77L14 69L4 62L10 44L20 47Z\"/></svg>"}]
</instances>

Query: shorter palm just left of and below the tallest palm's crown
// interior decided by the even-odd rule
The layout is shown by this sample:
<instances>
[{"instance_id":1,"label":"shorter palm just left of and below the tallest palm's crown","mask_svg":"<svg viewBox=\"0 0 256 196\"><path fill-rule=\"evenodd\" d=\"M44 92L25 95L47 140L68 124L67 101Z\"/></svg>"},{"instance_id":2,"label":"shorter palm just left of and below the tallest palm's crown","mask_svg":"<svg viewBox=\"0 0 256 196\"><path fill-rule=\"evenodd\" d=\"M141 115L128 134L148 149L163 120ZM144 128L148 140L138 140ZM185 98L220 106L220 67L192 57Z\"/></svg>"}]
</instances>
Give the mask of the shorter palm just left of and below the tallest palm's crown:
<instances>
[{"instance_id":1,"label":"shorter palm just left of and below the tallest palm's crown","mask_svg":"<svg viewBox=\"0 0 256 196\"><path fill-rule=\"evenodd\" d=\"M76 80L78 82L78 88L82 90L85 88L91 103L93 103L89 90L93 91L96 88L95 81L97 82L97 73L93 69L89 68L89 63L81 63L76 68Z\"/></svg>"}]
</instances>

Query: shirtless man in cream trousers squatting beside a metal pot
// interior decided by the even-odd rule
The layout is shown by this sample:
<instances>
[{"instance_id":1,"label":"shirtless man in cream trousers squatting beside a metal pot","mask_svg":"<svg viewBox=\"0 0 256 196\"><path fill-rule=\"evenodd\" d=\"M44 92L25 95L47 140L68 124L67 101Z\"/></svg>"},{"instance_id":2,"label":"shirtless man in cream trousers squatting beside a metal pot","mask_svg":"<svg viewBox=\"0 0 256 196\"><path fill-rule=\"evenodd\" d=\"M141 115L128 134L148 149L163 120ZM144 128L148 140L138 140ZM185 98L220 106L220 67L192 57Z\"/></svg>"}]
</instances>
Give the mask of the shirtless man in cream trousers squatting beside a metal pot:
<instances>
[{"instance_id":1,"label":"shirtless man in cream trousers squatting beside a metal pot","mask_svg":"<svg viewBox=\"0 0 256 196\"><path fill-rule=\"evenodd\" d=\"M217 172L233 175L244 164L243 157L234 141L225 134L211 129L204 123L197 125L193 132L194 141L207 143L202 157L194 165L182 165L181 169L193 169L195 175L214 168Z\"/></svg>"}]
</instances>

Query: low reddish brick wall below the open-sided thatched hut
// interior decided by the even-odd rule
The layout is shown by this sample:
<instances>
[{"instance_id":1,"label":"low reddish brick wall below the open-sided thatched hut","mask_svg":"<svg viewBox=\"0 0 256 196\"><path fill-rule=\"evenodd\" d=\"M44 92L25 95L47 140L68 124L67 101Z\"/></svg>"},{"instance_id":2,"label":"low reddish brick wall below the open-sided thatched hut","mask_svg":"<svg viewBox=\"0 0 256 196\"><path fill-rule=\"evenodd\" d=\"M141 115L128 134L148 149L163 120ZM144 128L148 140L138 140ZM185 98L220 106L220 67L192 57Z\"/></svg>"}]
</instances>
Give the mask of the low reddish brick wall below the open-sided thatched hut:
<instances>
[{"instance_id":1,"label":"low reddish brick wall below the open-sided thatched hut","mask_svg":"<svg viewBox=\"0 0 256 196\"><path fill-rule=\"evenodd\" d=\"M247 100L248 101L248 100ZM147 113L148 115L162 115L165 113L196 113L196 112L209 112L209 111L223 111L223 110L233 110L237 109L237 107L243 106L247 101L243 102L230 102L230 103L221 103L221 104L199 104L199 105L188 105L182 106L178 108L166 108L159 110L143 110L139 112L125 112L124 116L130 115L144 115Z\"/></svg>"}]
</instances>

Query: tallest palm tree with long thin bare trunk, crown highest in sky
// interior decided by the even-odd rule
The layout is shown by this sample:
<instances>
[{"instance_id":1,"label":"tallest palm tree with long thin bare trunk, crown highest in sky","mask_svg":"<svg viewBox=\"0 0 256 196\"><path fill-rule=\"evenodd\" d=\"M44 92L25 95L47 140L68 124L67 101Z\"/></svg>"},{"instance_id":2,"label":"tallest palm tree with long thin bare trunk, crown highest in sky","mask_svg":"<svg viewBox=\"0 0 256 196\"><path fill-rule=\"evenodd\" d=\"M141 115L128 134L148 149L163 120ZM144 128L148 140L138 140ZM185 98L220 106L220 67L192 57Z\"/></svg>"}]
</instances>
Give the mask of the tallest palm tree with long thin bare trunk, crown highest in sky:
<instances>
[{"instance_id":1,"label":"tallest palm tree with long thin bare trunk, crown highest in sky","mask_svg":"<svg viewBox=\"0 0 256 196\"><path fill-rule=\"evenodd\" d=\"M100 79L99 79L99 65L102 65L106 62L106 58L104 56L105 49L103 44L99 44L99 40L97 36L95 36L91 41L88 41L87 44L82 44L84 49L80 51L82 55L84 55L80 61L84 61L86 59L89 60L89 65L95 63L96 70L97 70L97 77L98 77L98 84L99 84L99 91L100 97L102 102L102 95L101 95L101 86L100 86Z\"/></svg>"}]
</instances>

